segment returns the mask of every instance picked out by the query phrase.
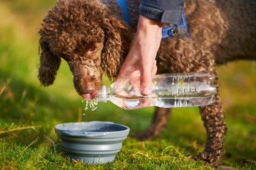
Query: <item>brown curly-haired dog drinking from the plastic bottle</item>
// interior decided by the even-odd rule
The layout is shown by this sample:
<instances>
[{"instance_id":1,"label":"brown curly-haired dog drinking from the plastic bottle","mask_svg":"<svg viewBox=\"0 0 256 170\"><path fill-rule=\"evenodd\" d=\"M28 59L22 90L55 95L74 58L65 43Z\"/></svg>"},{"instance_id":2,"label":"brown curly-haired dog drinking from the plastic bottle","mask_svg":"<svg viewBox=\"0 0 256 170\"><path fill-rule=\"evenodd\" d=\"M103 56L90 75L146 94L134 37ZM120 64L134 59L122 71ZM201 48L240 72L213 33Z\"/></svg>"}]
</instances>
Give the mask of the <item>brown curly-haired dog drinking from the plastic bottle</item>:
<instances>
[{"instance_id":1,"label":"brown curly-haired dog drinking from the plastic bottle","mask_svg":"<svg viewBox=\"0 0 256 170\"><path fill-rule=\"evenodd\" d=\"M40 68L43 86L53 84L61 58L68 62L79 94L102 85L102 74L115 80L128 53L139 18L139 0L126 1L130 26L115 0L59 0L40 29ZM236 59L256 58L256 1L186 0L191 39L163 40L158 51L158 73L207 72ZM217 78L216 78L217 80ZM218 87L218 84L216 83ZM170 109L156 108L151 126L141 137L157 137L167 124ZM221 99L200 108L207 131L199 158L218 165L227 131Z\"/></svg>"}]
</instances>

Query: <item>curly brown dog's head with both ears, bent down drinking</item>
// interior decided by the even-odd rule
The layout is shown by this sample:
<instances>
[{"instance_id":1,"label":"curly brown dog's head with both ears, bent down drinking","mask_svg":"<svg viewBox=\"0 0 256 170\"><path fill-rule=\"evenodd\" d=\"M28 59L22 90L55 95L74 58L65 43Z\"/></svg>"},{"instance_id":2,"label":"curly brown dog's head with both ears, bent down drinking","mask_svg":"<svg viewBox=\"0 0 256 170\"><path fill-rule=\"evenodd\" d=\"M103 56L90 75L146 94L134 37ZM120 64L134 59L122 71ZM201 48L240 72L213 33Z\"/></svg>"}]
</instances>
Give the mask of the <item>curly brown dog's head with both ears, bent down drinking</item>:
<instances>
[{"instance_id":1,"label":"curly brown dog's head with both ears, bent down drinking","mask_svg":"<svg viewBox=\"0 0 256 170\"><path fill-rule=\"evenodd\" d=\"M39 34L41 84L53 84L63 58L79 95L95 92L103 73L115 79L132 39L126 24L96 0L57 1Z\"/></svg>"}]
</instances>

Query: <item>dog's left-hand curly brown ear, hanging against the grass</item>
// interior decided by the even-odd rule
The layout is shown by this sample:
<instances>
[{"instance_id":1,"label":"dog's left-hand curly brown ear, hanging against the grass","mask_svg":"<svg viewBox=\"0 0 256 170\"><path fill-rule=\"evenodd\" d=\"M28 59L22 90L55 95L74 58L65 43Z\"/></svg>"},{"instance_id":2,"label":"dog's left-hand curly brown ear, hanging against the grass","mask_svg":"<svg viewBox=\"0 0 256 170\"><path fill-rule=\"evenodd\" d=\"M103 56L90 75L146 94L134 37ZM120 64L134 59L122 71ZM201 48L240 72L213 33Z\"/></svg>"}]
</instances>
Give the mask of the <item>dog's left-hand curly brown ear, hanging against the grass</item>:
<instances>
[{"instance_id":1,"label":"dog's left-hand curly brown ear, hanging against the grass","mask_svg":"<svg viewBox=\"0 0 256 170\"><path fill-rule=\"evenodd\" d=\"M40 67L38 69L38 79L43 86L49 86L55 80L61 58L51 52L49 44L42 37L40 38L39 53Z\"/></svg>"}]
</instances>

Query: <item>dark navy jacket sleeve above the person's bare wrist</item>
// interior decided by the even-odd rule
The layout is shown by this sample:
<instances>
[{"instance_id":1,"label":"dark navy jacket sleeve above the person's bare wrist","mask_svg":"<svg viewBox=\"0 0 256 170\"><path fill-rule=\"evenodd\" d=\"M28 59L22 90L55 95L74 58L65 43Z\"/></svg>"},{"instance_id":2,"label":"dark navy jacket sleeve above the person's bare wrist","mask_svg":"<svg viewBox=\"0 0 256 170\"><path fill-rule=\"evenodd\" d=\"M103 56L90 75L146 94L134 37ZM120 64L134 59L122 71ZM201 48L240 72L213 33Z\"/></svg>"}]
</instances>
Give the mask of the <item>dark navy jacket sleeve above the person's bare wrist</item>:
<instances>
[{"instance_id":1,"label":"dark navy jacket sleeve above the person's bare wrist","mask_svg":"<svg viewBox=\"0 0 256 170\"><path fill-rule=\"evenodd\" d=\"M139 7L142 16L178 24L182 17L184 0L142 0Z\"/></svg>"}]
</instances>

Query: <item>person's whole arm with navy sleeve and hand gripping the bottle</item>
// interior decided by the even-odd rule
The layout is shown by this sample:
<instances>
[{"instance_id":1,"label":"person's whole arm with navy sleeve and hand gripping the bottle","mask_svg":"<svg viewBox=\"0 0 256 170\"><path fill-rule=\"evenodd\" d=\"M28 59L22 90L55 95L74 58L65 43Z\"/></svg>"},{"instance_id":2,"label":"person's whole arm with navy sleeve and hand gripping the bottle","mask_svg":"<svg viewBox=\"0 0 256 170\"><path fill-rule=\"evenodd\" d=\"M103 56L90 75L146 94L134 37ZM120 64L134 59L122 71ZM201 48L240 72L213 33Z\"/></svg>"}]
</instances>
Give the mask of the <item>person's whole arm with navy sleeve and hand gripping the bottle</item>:
<instances>
[{"instance_id":1,"label":"person's whole arm with navy sleeve and hand gripping the bottle","mask_svg":"<svg viewBox=\"0 0 256 170\"><path fill-rule=\"evenodd\" d=\"M122 64L117 79L141 76L141 94L150 95L152 75L156 75L156 53L162 39L162 22L180 22L184 0L142 0L134 41Z\"/></svg>"}]
</instances>

